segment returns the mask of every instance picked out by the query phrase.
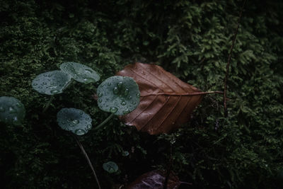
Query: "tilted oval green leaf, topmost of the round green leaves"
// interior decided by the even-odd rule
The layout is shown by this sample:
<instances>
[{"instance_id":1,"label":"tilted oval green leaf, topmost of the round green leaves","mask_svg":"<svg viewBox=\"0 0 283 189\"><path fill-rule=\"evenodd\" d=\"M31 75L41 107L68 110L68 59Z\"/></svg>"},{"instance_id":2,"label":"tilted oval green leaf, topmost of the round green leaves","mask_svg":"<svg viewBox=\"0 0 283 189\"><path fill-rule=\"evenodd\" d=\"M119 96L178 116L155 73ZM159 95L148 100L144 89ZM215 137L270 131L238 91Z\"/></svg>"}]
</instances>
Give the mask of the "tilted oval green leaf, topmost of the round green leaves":
<instances>
[{"instance_id":1,"label":"tilted oval green leaf, topmost of the round green leaves","mask_svg":"<svg viewBox=\"0 0 283 189\"><path fill-rule=\"evenodd\" d=\"M60 65L60 69L69 74L74 80L84 84L96 82L100 79L96 71L76 62L65 62Z\"/></svg>"}]
</instances>

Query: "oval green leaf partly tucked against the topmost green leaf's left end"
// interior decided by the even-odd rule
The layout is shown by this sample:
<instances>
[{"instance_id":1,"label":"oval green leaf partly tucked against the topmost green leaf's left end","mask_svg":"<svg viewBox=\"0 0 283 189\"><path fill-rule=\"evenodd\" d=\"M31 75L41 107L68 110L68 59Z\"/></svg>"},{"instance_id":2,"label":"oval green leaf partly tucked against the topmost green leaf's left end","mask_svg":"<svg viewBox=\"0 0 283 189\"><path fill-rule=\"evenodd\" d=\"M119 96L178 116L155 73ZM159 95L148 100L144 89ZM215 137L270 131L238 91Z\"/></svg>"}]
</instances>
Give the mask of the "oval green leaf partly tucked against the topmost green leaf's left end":
<instances>
[{"instance_id":1,"label":"oval green leaf partly tucked against the topmost green leaf's left end","mask_svg":"<svg viewBox=\"0 0 283 189\"><path fill-rule=\"evenodd\" d=\"M62 93L71 81L71 76L60 70L39 74L33 79L32 86L38 93L54 95Z\"/></svg>"}]
</instances>

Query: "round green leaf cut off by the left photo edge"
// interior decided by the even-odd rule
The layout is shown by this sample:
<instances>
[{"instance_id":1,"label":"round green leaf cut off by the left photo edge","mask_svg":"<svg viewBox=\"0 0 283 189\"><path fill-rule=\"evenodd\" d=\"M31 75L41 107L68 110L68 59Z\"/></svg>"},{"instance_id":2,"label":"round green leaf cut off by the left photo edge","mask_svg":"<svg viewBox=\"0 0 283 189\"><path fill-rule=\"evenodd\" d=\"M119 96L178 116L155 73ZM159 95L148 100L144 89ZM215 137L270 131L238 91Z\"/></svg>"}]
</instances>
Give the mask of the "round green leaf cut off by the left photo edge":
<instances>
[{"instance_id":1,"label":"round green leaf cut off by the left photo edge","mask_svg":"<svg viewBox=\"0 0 283 189\"><path fill-rule=\"evenodd\" d=\"M17 98L0 97L0 121L20 125L25 118L25 107Z\"/></svg>"}]
</instances>

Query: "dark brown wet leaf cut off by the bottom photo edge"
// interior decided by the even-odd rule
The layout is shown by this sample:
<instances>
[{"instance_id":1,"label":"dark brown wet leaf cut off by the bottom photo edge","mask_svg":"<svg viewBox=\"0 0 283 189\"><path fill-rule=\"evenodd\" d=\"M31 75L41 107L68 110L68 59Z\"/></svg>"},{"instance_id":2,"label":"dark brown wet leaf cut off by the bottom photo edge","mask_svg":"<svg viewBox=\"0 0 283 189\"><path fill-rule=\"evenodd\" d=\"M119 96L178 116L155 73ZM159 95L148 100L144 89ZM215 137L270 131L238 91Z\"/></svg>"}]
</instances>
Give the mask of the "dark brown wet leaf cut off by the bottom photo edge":
<instances>
[{"instance_id":1,"label":"dark brown wet leaf cut off by the bottom photo edge","mask_svg":"<svg viewBox=\"0 0 283 189\"><path fill-rule=\"evenodd\" d=\"M153 189L163 189L165 181L166 171L154 170L148 173L144 173L139 176L134 182L127 185L127 189L141 189L141 188L153 188ZM179 188L180 181L178 176L174 173L170 173L168 178L168 189Z\"/></svg>"}]
</instances>

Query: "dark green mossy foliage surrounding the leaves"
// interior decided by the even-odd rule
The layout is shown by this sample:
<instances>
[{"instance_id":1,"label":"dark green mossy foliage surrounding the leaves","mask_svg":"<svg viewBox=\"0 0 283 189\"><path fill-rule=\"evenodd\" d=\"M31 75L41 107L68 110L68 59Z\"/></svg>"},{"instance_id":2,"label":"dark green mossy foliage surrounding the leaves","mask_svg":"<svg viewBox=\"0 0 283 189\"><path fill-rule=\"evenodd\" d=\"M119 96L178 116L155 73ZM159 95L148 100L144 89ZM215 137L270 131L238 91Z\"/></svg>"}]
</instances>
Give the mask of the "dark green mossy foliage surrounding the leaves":
<instances>
[{"instance_id":1,"label":"dark green mossy foliage surrounding the leaves","mask_svg":"<svg viewBox=\"0 0 283 189\"><path fill-rule=\"evenodd\" d=\"M80 62L102 81L132 62L161 67L202 91L221 91L243 1L0 2L0 96L26 108L23 125L0 123L1 188L95 188L79 147L56 122L61 108L80 108L98 125L93 85L73 84L48 96L30 83L37 74ZM280 188L283 169L283 3L248 1L231 59L229 117L222 96L204 97L189 124L158 137L115 118L81 141L103 188L142 173L172 169L190 188ZM129 156L122 156L122 151ZM115 161L120 171L103 170ZM281 174L279 174L281 173ZM280 186L281 185L281 186Z\"/></svg>"}]
</instances>

